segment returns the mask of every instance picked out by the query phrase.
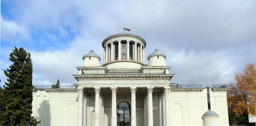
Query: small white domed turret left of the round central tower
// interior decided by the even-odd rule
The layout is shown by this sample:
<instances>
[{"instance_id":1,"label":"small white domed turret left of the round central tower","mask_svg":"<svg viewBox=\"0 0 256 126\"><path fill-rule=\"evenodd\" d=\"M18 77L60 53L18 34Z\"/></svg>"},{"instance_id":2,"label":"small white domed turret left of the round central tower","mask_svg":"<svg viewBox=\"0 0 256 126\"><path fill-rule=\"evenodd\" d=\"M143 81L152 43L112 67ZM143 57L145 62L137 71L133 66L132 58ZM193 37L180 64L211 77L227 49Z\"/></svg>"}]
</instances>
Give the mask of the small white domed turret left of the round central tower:
<instances>
[{"instance_id":1,"label":"small white domed turret left of the round central tower","mask_svg":"<svg viewBox=\"0 0 256 126\"><path fill-rule=\"evenodd\" d=\"M83 56L83 67L100 66L100 56L93 50Z\"/></svg>"}]
</instances>

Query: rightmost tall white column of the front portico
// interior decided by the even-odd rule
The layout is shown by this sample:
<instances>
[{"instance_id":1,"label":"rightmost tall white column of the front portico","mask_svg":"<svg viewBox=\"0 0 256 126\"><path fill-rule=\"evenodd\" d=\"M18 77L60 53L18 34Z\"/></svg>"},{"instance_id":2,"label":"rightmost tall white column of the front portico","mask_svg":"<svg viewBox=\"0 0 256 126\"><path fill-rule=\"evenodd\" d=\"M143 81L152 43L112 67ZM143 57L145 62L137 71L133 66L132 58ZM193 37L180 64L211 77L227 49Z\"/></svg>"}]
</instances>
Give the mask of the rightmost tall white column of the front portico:
<instances>
[{"instance_id":1,"label":"rightmost tall white column of the front portico","mask_svg":"<svg viewBox=\"0 0 256 126\"><path fill-rule=\"evenodd\" d=\"M165 87L165 125L170 125L169 86Z\"/></svg>"}]
</instances>

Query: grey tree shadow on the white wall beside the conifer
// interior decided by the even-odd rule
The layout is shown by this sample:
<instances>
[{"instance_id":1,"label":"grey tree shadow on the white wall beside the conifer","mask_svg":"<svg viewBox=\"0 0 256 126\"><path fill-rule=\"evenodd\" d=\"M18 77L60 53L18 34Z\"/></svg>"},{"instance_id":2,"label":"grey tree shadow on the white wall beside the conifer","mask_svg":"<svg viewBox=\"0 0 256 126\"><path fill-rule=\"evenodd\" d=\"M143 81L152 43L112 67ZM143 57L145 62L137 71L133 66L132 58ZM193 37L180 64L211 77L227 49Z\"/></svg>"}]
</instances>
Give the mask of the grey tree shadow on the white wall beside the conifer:
<instances>
[{"instance_id":1,"label":"grey tree shadow on the white wall beside the conifer","mask_svg":"<svg viewBox=\"0 0 256 126\"><path fill-rule=\"evenodd\" d=\"M38 108L37 119L41 121L39 126L51 126L51 110L48 100L42 101L40 108Z\"/></svg>"}]
</instances>

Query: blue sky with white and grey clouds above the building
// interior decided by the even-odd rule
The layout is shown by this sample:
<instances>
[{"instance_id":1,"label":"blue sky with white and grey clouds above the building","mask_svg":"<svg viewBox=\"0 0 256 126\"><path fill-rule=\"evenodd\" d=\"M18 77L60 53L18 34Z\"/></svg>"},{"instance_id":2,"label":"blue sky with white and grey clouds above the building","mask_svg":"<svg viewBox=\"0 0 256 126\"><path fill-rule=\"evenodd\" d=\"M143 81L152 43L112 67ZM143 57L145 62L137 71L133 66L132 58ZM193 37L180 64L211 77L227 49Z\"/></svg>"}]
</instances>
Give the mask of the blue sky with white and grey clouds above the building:
<instances>
[{"instance_id":1,"label":"blue sky with white and grey clouds above the building","mask_svg":"<svg viewBox=\"0 0 256 126\"><path fill-rule=\"evenodd\" d=\"M255 0L1 0L0 85L15 46L31 53L34 85L76 84L83 55L103 57L102 41L124 22L147 42L145 57L167 56L170 82L229 84L256 63L255 14Z\"/></svg>"}]
</instances>

